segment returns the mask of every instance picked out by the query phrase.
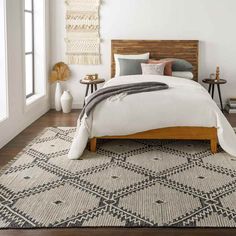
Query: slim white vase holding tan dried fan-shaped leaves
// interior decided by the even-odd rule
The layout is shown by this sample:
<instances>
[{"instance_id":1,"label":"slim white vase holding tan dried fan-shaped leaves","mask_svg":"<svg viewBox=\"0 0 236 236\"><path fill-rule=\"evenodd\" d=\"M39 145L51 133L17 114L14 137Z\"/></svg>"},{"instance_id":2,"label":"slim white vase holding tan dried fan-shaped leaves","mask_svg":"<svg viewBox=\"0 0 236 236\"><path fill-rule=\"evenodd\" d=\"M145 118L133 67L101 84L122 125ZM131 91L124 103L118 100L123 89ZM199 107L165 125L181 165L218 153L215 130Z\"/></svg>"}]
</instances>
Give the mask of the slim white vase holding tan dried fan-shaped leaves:
<instances>
[{"instance_id":1,"label":"slim white vase holding tan dried fan-shaped leaves","mask_svg":"<svg viewBox=\"0 0 236 236\"><path fill-rule=\"evenodd\" d=\"M64 62L59 62L54 65L51 76L50 76L50 82L54 83L56 82L56 91L55 91L55 109L56 111L61 111L61 96L62 96L62 88L60 81L66 81L70 78L70 68L68 65L66 65Z\"/></svg>"}]
</instances>

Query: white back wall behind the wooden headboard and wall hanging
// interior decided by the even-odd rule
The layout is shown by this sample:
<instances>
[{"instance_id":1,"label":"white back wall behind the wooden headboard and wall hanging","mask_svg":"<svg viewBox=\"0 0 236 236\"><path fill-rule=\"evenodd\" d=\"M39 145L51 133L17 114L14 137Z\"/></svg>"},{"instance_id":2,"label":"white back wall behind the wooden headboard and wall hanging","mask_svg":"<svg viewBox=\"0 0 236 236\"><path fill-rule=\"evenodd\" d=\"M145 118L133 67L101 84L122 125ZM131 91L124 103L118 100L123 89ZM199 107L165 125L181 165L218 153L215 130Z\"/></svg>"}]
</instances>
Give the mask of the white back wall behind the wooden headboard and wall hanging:
<instances>
[{"instance_id":1,"label":"white back wall behind the wooden headboard and wall hanging","mask_svg":"<svg viewBox=\"0 0 236 236\"><path fill-rule=\"evenodd\" d=\"M65 60L64 0L50 0L51 64ZM100 66L71 66L73 77L64 87L72 91L74 106L83 103L79 79L98 72L110 78L111 39L198 39L200 79L220 65L224 99L236 97L235 0L103 0L101 7L102 61ZM52 92L53 92L52 88ZM53 94L53 93L52 93ZM53 104L53 98L51 99Z\"/></svg>"}]
</instances>

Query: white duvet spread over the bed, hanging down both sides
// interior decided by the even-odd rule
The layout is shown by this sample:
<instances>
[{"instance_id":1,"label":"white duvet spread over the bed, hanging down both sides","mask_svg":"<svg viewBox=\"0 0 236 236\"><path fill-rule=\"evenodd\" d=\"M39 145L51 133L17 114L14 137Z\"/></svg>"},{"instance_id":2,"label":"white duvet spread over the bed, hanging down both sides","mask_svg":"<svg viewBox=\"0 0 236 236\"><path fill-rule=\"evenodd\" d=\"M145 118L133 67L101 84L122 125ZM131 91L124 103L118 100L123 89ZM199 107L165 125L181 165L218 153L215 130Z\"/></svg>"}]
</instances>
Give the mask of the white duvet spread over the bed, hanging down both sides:
<instances>
[{"instance_id":1,"label":"white duvet spread over the bed, hanging down both sides","mask_svg":"<svg viewBox=\"0 0 236 236\"><path fill-rule=\"evenodd\" d=\"M216 127L221 147L236 156L236 135L208 92L198 83L157 75L123 76L111 79L105 87L157 81L169 89L107 99L89 117L78 122L70 159L82 156L93 137L120 136L177 126Z\"/></svg>"}]
</instances>

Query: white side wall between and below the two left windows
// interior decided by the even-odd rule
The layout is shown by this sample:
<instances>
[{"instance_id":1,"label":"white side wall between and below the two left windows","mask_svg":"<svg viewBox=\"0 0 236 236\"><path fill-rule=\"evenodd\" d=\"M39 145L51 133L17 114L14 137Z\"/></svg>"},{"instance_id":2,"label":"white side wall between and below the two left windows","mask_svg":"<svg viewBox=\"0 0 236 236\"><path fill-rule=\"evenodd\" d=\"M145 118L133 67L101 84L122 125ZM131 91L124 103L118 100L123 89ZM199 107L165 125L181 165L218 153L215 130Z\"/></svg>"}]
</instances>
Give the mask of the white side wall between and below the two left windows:
<instances>
[{"instance_id":1,"label":"white side wall between and below the two left windows","mask_svg":"<svg viewBox=\"0 0 236 236\"><path fill-rule=\"evenodd\" d=\"M9 117L4 122L0 122L0 148L49 109L48 89L45 96L36 102L29 106L25 103L22 0L6 0L6 13Z\"/></svg>"}]
</instances>

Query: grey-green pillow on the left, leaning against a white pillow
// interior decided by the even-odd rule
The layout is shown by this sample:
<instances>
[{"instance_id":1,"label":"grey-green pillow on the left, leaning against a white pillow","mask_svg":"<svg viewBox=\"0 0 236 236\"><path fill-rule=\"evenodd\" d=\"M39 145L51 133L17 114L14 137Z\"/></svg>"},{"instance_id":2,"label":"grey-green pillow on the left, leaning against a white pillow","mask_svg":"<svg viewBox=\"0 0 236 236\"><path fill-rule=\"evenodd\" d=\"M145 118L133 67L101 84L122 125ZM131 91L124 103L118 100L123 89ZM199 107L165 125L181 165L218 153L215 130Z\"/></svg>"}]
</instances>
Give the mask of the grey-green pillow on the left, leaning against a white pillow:
<instances>
[{"instance_id":1,"label":"grey-green pillow on the left, leaning against a white pillow","mask_svg":"<svg viewBox=\"0 0 236 236\"><path fill-rule=\"evenodd\" d=\"M144 59L118 59L120 64L120 76L141 75L142 63L147 63Z\"/></svg>"}]
</instances>

